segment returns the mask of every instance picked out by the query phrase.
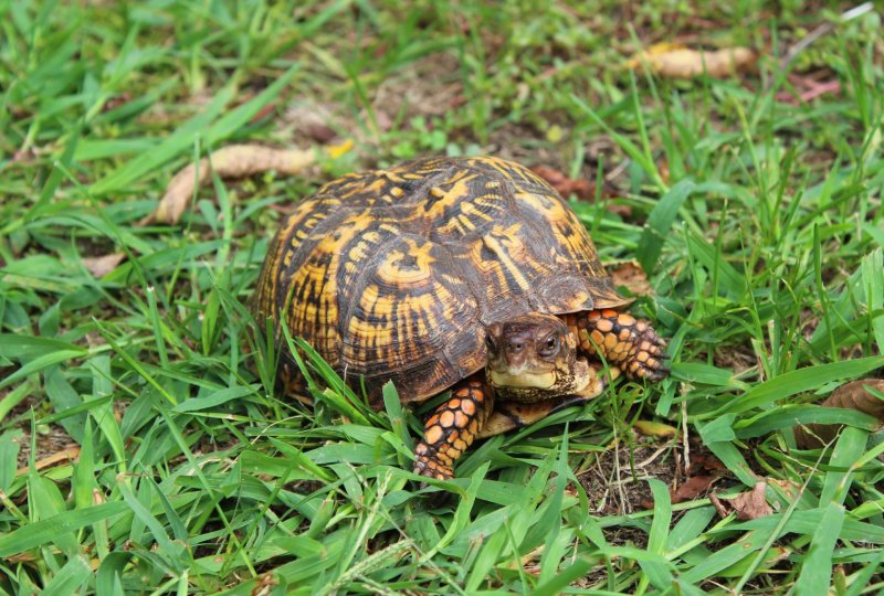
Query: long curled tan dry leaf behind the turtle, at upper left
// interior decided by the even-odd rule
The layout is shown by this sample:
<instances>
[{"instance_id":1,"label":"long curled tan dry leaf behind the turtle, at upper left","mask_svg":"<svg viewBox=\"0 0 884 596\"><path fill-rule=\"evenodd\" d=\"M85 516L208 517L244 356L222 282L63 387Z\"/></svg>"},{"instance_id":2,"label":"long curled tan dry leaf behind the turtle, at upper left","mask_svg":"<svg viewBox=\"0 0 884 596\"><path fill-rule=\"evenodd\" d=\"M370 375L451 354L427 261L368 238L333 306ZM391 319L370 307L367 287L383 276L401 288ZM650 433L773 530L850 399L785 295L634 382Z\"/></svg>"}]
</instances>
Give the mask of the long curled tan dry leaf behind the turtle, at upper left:
<instances>
[{"instance_id":1,"label":"long curled tan dry leaf behind the turtle, at upper left","mask_svg":"<svg viewBox=\"0 0 884 596\"><path fill-rule=\"evenodd\" d=\"M316 161L313 151L301 149L273 149L262 145L231 145L214 151L212 168L222 178L242 178L267 171L292 175ZM194 182L201 185L209 177L209 159L200 160L199 169L192 163L183 168L166 187L166 194L156 211L141 223L173 224L181 219L188 201L193 196Z\"/></svg>"}]
</instances>

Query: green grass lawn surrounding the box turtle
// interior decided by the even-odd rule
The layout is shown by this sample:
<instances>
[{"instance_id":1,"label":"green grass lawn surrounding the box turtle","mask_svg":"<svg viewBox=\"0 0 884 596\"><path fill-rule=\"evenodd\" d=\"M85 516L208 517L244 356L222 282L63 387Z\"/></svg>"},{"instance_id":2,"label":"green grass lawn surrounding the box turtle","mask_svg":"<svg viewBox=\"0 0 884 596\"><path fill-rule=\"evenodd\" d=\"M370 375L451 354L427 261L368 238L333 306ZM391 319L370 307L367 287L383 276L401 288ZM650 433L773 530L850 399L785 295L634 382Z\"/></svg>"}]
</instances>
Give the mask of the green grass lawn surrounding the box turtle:
<instances>
[{"instance_id":1,"label":"green grass lawn surrounding the box turtle","mask_svg":"<svg viewBox=\"0 0 884 596\"><path fill-rule=\"evenodd\" d=\"M881 14L697 4L0 2L0 592L884 587L877 425L812 405L884 366ZM761 60L622 67L673 39ZM790 102L811 75L838 89ZM215 181L180 224L138 223L211 147L346 139L303 177ZM309 358L316 406L278 394L249 299L280 209L475 152L602 181L615 198L575 209L603 260L648 270L634 311L673 375L484 441L434 507L406 471L421 411L390 387L372 412ZM798 448L818 422L849 426ZM673 502L708 454L716 491L766 481L775 512Z\"/></svg>"}]
</instances>

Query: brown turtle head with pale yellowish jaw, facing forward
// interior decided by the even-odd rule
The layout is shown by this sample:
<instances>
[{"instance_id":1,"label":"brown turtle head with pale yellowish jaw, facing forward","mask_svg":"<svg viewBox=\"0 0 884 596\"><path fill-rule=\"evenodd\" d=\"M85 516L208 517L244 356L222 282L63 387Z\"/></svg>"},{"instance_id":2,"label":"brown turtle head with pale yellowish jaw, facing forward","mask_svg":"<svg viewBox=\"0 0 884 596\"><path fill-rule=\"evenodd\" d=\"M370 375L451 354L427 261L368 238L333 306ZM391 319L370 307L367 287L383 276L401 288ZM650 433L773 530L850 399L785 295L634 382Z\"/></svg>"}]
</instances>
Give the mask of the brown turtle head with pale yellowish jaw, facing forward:
<instances>
[{"instance_id":1,"label":"brown turtle head with pale yellowish jaw, facing forward","mask_svg":"<svg viewBox=\"0 0 884 596\"><path fill-rule=\"evenodd\" d=\"M551 315L534 312L486 329L488 383L497 395L538 402L583 391L590 382L577 338Z\"/></svg>"}]
</instances>

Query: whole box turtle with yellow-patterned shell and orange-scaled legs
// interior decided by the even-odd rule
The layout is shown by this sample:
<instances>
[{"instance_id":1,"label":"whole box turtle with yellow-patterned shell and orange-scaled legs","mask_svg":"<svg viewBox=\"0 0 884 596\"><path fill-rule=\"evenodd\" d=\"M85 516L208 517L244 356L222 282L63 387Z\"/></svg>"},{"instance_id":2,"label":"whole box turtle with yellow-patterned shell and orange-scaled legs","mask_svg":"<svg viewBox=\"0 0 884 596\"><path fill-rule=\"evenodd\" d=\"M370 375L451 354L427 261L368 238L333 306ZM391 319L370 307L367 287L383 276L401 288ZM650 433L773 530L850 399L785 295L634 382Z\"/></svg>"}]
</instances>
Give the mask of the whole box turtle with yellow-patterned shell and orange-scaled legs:
<instances>
[{"instance_id":1,"label":"whole box turtle with yellow-patterned shell and orange-scaled legs","mask_svg":"<svg viewBox=\"0 0 884 596\"><path fill-rule=\"evenodd\" d=\"M664 342L628 304L561 196L488 157L329 182L283 221L256 292L372 405L387 381L403 402L451 390L415 449L436 479L476 438L599 395L600 356L612 376L663 379Z\"/></svg>"}]
</instances>

